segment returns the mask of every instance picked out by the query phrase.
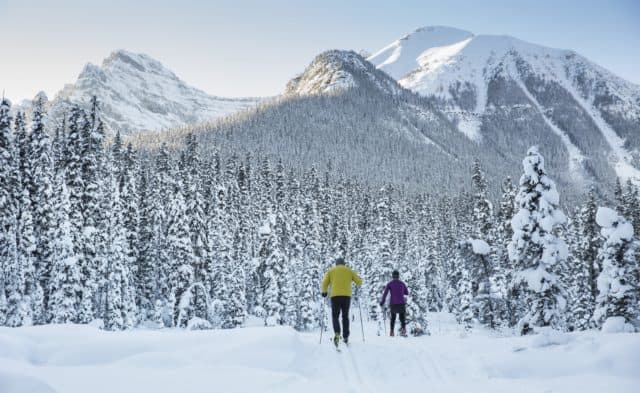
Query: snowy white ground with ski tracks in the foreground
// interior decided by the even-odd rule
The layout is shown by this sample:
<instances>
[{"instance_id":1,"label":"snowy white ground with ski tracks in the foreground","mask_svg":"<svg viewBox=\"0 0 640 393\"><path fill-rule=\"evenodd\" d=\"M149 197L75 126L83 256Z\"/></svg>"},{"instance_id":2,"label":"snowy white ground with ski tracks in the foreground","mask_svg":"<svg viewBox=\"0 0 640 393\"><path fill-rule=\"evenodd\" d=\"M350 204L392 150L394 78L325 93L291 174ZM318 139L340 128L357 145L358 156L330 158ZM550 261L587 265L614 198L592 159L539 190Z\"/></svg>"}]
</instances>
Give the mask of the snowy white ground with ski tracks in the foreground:
<instances>
[{"instance_id":1,"label":"snowy white ground with ski tracks in the foreground","mask_svg":"<svg viewBox=\"0 0 640 393\"><path fill-rule=\"evenodd\" d=\"M432 335L377 337L356 319L337 353L289 328L0 328L1 393L638 392L640 334L464 337L446 315Z\"/></svg>"}]
</instances>

